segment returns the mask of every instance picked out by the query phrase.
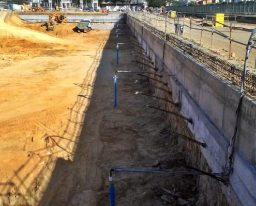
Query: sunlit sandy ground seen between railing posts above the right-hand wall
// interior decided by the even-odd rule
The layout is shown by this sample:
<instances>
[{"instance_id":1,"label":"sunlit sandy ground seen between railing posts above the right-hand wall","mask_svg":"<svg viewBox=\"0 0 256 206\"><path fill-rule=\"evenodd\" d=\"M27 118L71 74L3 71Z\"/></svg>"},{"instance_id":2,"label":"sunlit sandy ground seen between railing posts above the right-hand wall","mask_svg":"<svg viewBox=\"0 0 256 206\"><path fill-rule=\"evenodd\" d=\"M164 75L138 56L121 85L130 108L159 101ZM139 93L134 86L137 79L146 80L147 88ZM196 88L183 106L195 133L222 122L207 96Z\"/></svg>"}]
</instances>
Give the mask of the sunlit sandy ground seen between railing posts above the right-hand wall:
<instances>
[{"instance_id":1,"label":"sunlit sandy ground seen between railing posts above the right-hand wall","mask_svg":"<svg viewBox=\"0 0 256 206\"><path fill-rule=\"evenodd\" d=\"M193 18L194 19L194 18ZM195 19L197 21L201 21L202 19ZM157 28L162 28L164 30L164 22L162 21L151 21L155 25L157 25ZM167 32L172 32L175 33L174 30L174 20L170 19L170 22L172 24L167 25ZM179 19L179 24L183 24L183 18ZM208 21L208 25L205 24L204 29L207 29L208 31L203 31L202 35L202 46L211 49L212 47L212 22ZM228 24L229 23L225 23ZM189 18L185 19L185 29L184 29L184 38L189 40ZM248 29L254 29L256 28L256 24L242 24L242 23L233 23L233 26L236 27L244 27ZM196 29L201 29L201 23L196 23L193 21L193 28ZM230 29L227 27L214 27L218 31L221 31L227 36L230 36ZM191 40L194 42L197 42L200 44L200 39L201 39L201 30L196 30L196 29L191 29ZM210 31L210 32L209 32ZM251 35L251 32L246 32L246 31L240 31L240 30L232 30L232 38L236 41L242 42L244 44L248 43L249 37ZM214 52L217 54L220 54L225 57L229 57L229 40L217 35L214 33ZM240 63L244 63L245 60L245 53L246 53L246 46L245 45L240 45L235 42L232 42L231 45L231 52L234 53L234 56L231 57L232 60L236 60ZM256 60L256 49L252 49L249 55L249 60L248 60L248 65L252 68L254 68L255 65L255 60ZM256 72L256 71L255 71Z\"/></svg>"}]
</instances>

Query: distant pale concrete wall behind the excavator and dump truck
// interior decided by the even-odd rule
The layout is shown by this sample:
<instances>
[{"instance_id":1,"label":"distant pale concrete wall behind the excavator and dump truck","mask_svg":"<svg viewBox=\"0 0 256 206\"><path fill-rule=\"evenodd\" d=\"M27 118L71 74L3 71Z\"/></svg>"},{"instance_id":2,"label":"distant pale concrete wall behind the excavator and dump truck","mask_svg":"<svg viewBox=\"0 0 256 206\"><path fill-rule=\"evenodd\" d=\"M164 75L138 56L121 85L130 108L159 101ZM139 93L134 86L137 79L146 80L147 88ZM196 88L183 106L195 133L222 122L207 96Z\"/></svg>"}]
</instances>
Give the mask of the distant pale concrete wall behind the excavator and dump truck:
<instances>
[{"instance_id":1,"label":"distant pale concrete wall behind the excavator and dump truck","mask_svg":"<svg viewBox=\"0 0 256 206\"><path fill-rule=\"evenodd\" d=\"M20 18L28 22L49 22L49 16L46 14L27 15L20 14ZM83 19L93 21L93 29L112 29L117 22L125 21L126 14L124 13L111 13L108 15L66 15L68 22L80 22Z\"/></svg>"}]
</instances>

